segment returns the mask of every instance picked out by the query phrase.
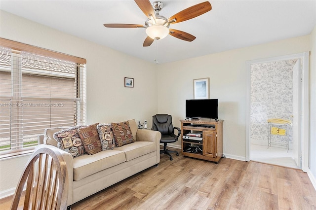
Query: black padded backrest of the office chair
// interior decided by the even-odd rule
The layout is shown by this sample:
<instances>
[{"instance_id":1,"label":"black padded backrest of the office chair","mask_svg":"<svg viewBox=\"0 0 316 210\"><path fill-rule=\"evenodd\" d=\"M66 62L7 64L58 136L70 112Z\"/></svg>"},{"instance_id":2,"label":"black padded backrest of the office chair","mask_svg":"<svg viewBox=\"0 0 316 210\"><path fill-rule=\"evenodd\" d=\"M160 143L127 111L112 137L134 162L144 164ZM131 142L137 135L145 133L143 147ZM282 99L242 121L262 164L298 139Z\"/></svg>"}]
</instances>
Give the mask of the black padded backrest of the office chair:
<instances>
[{"instance_id":1,"label":"black padded backrest of the office chair","mask_svg":"<svg viewBox=\"0 0 316 210\"><path fill-rule=\"evenodd\" d=\"M172 117L168 114L156 114L153 116L153 129L159 131L161 135L173 133Z\"/></svg>"}]
</instances>

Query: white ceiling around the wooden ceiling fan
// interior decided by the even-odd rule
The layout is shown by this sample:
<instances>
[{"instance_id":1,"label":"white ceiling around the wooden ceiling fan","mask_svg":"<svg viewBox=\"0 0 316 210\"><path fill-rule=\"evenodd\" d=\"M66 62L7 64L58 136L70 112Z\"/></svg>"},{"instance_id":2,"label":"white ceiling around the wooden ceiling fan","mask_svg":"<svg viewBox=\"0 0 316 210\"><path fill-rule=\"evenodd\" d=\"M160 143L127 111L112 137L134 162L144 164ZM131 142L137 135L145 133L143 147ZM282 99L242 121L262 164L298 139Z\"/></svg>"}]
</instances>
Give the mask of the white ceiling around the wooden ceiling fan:
<instances>
[{"instance_id":1,"label":"white ceiling around the wooden ceiling fan","mask_svg":"<svg viewBox=\"0 0 316 210\"><path fill-rule=\"evenodd\" d=\"M204 0L161 0L166 18ZM153 0L151 0L153 2ZM195 35L192 42L171 35L143 47L144 28L105 28L104 23L144 25L134 0L0 0L0 9L154 63L309 35L316 25L316 0L209 0L212 10L170 28Z\"/></svg>"}]
</instances>

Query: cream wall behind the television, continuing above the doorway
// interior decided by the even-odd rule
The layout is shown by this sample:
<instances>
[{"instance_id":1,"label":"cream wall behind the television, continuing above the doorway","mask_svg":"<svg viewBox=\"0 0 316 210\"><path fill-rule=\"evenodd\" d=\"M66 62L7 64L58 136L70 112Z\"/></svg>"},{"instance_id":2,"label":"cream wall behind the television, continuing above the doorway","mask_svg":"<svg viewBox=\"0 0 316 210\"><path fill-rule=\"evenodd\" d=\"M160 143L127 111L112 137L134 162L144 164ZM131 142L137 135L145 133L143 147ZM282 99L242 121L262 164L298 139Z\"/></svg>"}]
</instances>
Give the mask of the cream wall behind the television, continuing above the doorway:
<instances>
[{"instance_id":1,"label":"cream wall behind the television, continuing above the doorway","mask_svg":"<svg viewBox=\"0 0 316 210\"><path fill-rule=\"evenodd\" d=\"M179 120L185 118L185 100L193 99L193 79L209 77L210 98L219 100L218 117L225 120L224 154L245 160L246 61L309 50L307 35L159 65L158 101L164 103L158 112L171 113L174 124L180 126Z\"/></svg>"}]
</instances>

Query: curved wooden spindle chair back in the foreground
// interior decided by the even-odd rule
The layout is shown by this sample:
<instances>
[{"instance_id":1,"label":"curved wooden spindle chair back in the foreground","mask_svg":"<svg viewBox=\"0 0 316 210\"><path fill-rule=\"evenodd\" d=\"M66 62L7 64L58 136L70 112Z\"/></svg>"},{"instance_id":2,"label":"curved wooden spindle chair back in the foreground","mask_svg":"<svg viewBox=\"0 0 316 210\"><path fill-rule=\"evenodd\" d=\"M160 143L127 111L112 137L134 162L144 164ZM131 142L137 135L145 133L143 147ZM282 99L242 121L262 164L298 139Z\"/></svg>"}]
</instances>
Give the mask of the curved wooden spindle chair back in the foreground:
<instances>
[{"instance_id":1,"label":"curved wooden spindle chair back in the foreground","mask_svg":"<svg viewBox=\"0 0 316 210\"><path fill-rule=\"evenodd\" d=\"M25 185L25 196L22 196ZM61 153L57 148L40 148L24 169L11 210L17 210L22 203L23 210L64 210L67 198L67 168Z\"/></svg>"}]
</instances>

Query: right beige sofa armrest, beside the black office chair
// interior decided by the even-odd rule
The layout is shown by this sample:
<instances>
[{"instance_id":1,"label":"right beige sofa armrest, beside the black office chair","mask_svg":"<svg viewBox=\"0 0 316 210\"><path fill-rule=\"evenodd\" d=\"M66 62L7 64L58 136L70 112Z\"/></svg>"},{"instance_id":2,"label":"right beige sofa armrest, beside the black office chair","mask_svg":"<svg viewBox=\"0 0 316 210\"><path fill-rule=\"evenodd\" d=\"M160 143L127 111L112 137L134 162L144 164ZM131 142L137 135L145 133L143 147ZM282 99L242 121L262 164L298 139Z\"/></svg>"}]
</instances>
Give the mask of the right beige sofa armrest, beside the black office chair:
<instances>
[{"instance_id":1,"label":"right beige sofa armrest, beside the black office chair","mask_svg":"<svg viewBox=\"0 0 316 210\"><path fill-rule=\"evenodd\" d=\"M136 133L136 141L156 142L157 164L160 162L160 139L161 133L159 131L138 129Z\"/></svg>"}]
</instances>

